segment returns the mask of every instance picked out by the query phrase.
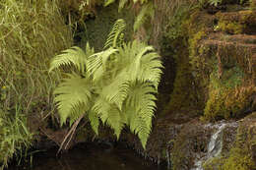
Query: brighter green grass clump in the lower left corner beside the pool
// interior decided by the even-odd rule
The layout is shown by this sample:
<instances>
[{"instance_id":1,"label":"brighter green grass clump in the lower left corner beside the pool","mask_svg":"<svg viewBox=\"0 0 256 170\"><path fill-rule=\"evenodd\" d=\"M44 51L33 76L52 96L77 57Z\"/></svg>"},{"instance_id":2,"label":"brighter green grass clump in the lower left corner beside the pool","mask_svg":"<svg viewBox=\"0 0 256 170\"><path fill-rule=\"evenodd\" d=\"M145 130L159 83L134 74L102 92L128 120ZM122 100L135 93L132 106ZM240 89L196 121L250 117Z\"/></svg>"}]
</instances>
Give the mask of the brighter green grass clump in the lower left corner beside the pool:
<instances>
[{"instance_id":1,"label":"brighter green grass clump in the lower left corner beside the pool","mask_svg":"<svg viewBox=\"0 0 256 170\"><path fill-rule=\"evenodd\" d=\"M21 160L32 145L32 133L26 124L27 118L20 108L16 108L15 114L0 110L0 169L7 166L13 155Z\"/></svg>"}]
</instances>

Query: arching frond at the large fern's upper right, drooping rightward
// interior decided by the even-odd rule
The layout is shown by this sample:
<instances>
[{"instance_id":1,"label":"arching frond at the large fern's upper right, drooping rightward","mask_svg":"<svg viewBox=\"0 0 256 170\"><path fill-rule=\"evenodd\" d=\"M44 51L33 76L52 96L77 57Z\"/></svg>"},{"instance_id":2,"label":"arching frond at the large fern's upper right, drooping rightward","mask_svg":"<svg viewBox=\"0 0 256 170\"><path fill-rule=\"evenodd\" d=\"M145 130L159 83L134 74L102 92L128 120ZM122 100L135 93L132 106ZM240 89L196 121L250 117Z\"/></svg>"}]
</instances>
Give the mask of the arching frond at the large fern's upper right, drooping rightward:
<instances>
[{"instance_id":1,"label":"arching frond at the large fern's upper right, drooping rightward","mask_svg":"<svg viewBox=\"0 0 256 170\"><path fill-rule=\"evenodd\" d=\"M151 82L158 87L162 64L160 55L152 46L134 40L119 49L120 58L126 63L127 72L132 82ZM127 58L128 57L128 58Z\"/></svg>"}]
</instances>

